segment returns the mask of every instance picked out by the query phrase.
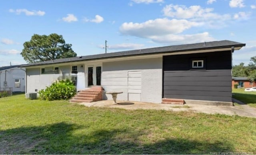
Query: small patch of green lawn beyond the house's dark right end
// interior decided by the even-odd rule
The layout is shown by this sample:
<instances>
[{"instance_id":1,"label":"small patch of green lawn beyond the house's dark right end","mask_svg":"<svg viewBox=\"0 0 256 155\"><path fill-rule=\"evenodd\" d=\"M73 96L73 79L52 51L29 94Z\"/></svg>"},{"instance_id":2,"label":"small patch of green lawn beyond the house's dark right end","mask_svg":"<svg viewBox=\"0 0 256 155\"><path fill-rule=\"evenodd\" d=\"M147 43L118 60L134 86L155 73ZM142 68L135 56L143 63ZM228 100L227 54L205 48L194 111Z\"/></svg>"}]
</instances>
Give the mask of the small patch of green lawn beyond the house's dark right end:
<instances>
[{"instance_id":1,"label":"small patch of green lawn beyond the house's dark right end","mask_svg":"<svg viewBox=\"0 0 256 155\"><path fill-rule=\"evenodd\" d=\"M256 108L256 92L245 92L244 88L232 89L232 97Z\"/></svg>"}]
</instances>

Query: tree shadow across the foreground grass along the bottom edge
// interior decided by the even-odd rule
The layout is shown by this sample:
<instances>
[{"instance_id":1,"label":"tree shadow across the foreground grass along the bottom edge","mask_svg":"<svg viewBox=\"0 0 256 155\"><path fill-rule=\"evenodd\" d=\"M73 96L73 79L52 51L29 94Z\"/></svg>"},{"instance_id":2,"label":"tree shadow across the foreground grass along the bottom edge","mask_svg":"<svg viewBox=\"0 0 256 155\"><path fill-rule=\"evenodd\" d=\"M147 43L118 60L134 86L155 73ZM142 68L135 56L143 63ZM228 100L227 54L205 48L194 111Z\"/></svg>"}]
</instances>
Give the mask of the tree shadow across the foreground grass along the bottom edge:
<instances>
[{"instance_id":1,"label":"tree shadow across the foreground grass along the bottom edge","mask_svg":"<svg viewBox=\"0 0 256 155\"><path fill-rule=\"evenodd\" d=\"M209 154L234 149L227 142L170 137L149 142L140 138L150 136L144 131L87 128L62 122L2 130L0 154Z\"/></svg>"}]
</instances>

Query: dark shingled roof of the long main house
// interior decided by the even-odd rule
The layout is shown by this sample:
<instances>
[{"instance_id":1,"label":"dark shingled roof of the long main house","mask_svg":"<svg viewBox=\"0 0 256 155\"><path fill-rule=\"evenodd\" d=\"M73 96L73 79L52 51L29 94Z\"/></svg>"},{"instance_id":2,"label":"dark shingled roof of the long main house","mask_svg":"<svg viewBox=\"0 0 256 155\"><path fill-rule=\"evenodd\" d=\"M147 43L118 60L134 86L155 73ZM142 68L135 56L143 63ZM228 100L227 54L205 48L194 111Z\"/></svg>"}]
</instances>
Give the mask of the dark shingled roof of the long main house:
<instances>
[{"instance_id":1,"label":"dark shingled roof of the long main house","mask_svg":"<svg viewBox=\"0 0 256 155\"><path fill-rule=\"evenodd\" d=\"M49 61L43 61L40 63L33 63L28 65L22 65L22 67L27 66L37 66L37 65L49 65L54 63L66 63L66 62L76 62L76 61L85 61L93 59L104 59L104 58L114 58L114 57L126 57L134 55L146 55L146 54L157 54L157 53L174 53L182 51L195 51L195 50L204 50L204 49L220 49L220 48L229 48L229 47L242 47L245 46L244 43L238 43L235 41L222 40L222 41L212 41L205 43L194 43L186 45L172 45L164 47L154 47L148 49L136 49L131 51L122 51L114 53L104 53L97 55L87 55L81 57L72 57L72 58L63 58L55 59Z\"/></svg>"}]
</instances>

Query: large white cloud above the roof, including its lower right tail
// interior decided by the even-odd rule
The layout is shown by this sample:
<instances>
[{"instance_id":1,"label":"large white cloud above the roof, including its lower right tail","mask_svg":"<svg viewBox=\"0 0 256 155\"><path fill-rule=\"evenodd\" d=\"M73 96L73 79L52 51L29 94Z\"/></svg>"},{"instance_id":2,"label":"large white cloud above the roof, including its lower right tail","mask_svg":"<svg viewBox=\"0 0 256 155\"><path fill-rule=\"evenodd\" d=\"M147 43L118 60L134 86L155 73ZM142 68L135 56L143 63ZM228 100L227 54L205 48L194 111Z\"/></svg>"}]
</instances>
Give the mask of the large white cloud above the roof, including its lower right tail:
<instances>
[{"instance_id":1,"label":"large white cloud above the roof, including its lower right tail","mask_svg":"<svg viewBox=\"0 0 256 155\"><path fill-rule=\"evenodd\" d=\"M201 26L201 23L188 20L169 20L167 18L148 20L143 23L123 23L120 32L124 35L132 35L151 39L158 43L178 44L213 41L208 32L197 34L179 34L191 27Z\"/></svg>"}]
</instances>

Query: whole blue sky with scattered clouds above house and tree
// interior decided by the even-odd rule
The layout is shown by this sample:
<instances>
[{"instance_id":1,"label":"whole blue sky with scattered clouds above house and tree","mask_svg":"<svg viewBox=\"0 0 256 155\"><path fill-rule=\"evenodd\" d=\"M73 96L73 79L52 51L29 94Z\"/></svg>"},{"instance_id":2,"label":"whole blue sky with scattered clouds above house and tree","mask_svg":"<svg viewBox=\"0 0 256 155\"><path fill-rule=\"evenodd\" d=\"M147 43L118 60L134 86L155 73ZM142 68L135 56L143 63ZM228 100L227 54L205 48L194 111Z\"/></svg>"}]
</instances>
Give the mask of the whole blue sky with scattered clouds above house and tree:
<instances>
[{"instance_id":1,"label":"whole blue sky with scattered clouds above house and tree","mask_svg":"<svg viewBox=\"0 0 256 155\"><path fill-rule=\"evenodd\" d=\"M231 40L233 65L256 56L256 0L2 0L0 66L26 64L34 34L63 35L81 55Z\"/></svg>"}]
</instances>

